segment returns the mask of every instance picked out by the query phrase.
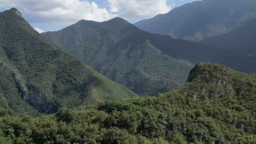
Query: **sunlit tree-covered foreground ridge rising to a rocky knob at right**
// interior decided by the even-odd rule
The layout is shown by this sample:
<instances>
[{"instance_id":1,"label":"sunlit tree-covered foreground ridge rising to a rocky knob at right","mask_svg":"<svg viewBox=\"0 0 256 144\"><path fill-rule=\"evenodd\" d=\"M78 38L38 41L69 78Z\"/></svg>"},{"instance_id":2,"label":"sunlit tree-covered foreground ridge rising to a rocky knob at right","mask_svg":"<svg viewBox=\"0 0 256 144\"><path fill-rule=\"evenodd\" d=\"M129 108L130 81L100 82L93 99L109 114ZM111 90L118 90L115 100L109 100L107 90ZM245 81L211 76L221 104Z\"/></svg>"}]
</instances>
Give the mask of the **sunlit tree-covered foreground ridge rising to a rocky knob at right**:
<instances>
[{"instance_id":1,"label":"sunlit tree-covered foreground ridge rising to a rocky knob at right","mask_svg":"<svg viewBox=\"0 0 256 144\"><path fill-rule=\"evenodd\" d=\"M0 113L0 143L255 144L256 75L198 63L185 86L57 114Z\"/></svg>"}]
</instances>

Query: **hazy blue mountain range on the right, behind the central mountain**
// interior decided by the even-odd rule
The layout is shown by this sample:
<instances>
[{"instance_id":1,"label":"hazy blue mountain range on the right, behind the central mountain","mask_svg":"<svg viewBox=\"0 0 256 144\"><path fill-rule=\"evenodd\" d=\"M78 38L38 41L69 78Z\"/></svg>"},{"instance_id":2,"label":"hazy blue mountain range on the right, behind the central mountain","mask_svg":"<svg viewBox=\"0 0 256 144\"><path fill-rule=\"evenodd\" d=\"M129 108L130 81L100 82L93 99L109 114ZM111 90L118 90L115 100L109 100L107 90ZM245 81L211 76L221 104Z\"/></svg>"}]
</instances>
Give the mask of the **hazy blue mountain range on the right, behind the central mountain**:
<instances>
[{"instance_id":1,"label":"hazy blue mountain range on the right, behind the central mountain","mask_svg":"<svg viewBox=\"0 0 256 144\"><path fill-rule=\"evenodd\" d=\"M213 46L210 52L214 56L208 62L252 73L256 72L255 22L254 0L202 0L134 25L148 32Z\"/></svg>"}]
</instances>

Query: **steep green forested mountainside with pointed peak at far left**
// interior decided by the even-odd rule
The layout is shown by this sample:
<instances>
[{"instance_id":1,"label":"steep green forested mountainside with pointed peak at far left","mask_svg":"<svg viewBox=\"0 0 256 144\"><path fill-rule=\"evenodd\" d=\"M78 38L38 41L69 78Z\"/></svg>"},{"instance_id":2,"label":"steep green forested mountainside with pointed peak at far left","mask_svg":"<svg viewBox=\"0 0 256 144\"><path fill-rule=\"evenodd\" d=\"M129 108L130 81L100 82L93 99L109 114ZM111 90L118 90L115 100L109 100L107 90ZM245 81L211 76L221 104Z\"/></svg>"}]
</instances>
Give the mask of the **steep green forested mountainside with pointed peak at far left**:
<instances>
[{"instance_id":1,"label":"steep green forested mountainside with pointed peak at far left","mask_svg":"<svg viewBox=\"0 0 256 144\"><path fill-rule=\"evenodd\" d=\"M16 8L0 13L0 79L0 106L19 113L136 96L42 38Z\"/></svg>"}]
</instances>

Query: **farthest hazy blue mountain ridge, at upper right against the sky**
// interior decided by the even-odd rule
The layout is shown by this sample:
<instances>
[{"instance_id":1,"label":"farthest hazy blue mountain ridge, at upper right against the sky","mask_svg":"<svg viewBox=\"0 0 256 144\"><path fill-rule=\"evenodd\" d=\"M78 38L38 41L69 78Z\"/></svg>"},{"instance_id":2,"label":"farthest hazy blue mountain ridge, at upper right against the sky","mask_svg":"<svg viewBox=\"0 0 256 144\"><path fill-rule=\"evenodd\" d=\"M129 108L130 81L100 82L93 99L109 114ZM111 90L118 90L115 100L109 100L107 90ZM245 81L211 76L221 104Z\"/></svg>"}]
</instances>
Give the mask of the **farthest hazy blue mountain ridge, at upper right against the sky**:
<instances>
[{"instance_id":1,"label":"farthest hazy blue mountain ridge, at upper right against the sky","mask_svg":"<svg viewBox=\"0 0 256 144\"><path fill-rule=\"evenodd\" d=\"M194 1L134 25L150 33L200 41L230 32L244 21L256 18L255 6L255 0Z\"/></svg>"}]
</instances>

